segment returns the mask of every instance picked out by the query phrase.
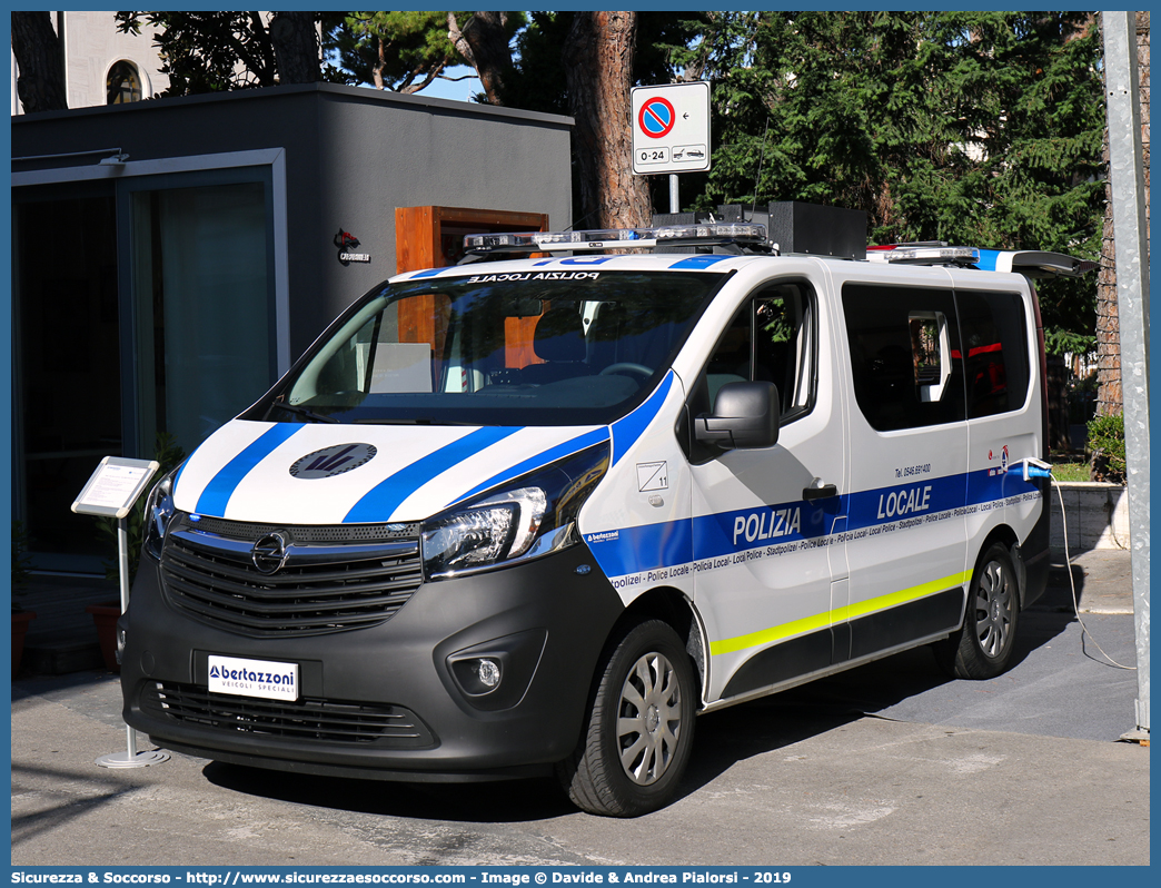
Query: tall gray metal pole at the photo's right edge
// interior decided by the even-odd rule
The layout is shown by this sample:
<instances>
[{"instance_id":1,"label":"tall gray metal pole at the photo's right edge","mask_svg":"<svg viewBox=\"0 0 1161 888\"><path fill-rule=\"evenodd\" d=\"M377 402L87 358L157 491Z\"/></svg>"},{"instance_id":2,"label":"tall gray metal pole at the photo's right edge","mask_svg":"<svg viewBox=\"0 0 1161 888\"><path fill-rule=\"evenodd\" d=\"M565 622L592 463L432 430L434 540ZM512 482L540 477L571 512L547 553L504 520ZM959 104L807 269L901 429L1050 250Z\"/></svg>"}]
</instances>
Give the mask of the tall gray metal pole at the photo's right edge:
<instances>
[{"instance_id":1,"label":"tall gray metal pole at the photo's right edge","mask_svg":"<svg viewBox=\"0 0 1161 888\"><path fill-rule=\"evenodd\" d=\"M1109 179L1120 316L1128 533L1137 629L1137 730L1149 736L1149 260L1145 216L1137 15L1103 13L1105 95L1109 102Z\"/></svg>"}]
</instances>

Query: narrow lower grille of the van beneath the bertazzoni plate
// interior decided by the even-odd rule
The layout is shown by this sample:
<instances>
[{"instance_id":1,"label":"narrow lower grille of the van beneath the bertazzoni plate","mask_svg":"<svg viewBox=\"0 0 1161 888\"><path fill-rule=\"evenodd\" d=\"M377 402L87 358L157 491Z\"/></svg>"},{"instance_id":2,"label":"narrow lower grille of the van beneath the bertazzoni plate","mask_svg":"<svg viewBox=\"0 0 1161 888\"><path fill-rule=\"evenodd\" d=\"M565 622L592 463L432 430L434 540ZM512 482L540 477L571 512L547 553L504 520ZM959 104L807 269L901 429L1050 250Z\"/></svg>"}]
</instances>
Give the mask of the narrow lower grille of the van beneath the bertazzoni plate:
<instances>
[{"instance_id":1,"label":"narrow lower grille of the van beneath the bertazzoni plate","mask_svg":"<svg viewBox=\"0 0 1161 888\"><path fill-rule=\"evenodd\" d=\"M158 718L216 731L318 740L375 744L384 749L435 745L427 726L410 709L333 700L282 700L216 694L172 681L146 681L140 708Z\"/></svg>"}]
</instances>

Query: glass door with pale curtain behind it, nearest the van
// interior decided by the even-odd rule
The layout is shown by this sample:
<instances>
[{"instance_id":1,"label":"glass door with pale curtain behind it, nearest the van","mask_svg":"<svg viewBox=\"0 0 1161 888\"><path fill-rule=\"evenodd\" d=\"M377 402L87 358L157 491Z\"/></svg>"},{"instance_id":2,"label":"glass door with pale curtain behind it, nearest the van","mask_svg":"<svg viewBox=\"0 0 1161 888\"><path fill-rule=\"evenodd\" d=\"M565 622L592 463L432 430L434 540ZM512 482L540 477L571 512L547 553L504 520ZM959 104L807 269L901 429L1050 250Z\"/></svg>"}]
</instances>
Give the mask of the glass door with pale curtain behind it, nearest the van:
<instances>
[{"instance_id":1,"label":"glass door with pale curtain behind it, nearest the van","mask_svg":"<svg viewBox=\"0 0 1161 888\"><path fill-rule=\"evenodd\" d=\"M186 453L273 384L274 305L261 181L132 194L139 447Z\"/></svg>"}]
</instances>

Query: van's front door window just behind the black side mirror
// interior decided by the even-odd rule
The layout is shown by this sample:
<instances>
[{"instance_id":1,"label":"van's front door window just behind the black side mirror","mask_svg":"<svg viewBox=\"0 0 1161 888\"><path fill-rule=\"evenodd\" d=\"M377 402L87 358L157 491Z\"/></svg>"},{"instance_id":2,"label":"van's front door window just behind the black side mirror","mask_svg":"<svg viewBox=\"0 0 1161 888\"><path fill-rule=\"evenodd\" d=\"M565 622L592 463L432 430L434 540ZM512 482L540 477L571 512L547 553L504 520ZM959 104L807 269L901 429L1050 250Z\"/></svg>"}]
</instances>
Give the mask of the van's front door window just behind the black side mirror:
<instances>
[{"instance_id":1,"label":"van's front door window just behind the black side mirror","mask_svg":"<svg viewBox=\"0 0 1161 888\"><path fill-rule=\"evenodd\" d=\"M806 284L764 287L734 315L709 356L709 404L727 382L767 381L778 386L784 423L809 410L814 327L814 294Z\"/></svg>"}]
</instances>

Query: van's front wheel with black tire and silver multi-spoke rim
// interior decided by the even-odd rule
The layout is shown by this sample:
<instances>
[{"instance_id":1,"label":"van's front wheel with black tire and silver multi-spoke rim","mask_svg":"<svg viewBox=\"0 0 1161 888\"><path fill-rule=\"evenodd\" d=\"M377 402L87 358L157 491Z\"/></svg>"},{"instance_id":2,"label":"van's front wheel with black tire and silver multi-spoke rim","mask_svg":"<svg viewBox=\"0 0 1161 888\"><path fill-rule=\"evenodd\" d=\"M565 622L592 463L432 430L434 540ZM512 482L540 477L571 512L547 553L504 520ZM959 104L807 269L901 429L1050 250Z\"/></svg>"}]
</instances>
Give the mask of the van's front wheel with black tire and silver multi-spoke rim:
<instances>
[{"instance_id":1,"label":"van's front wheel with black tire and silver multi-spoke rim","mask_svg":"<svg viewBox=\"0 0 1161 888\"><path fill-rule=\"evenodd\" d=\"M557 766L584 811L637 817L669 804L690 760L698 683L685 645L650 620L606 649L586 728Z\"/></svg>"}]
</instances>

